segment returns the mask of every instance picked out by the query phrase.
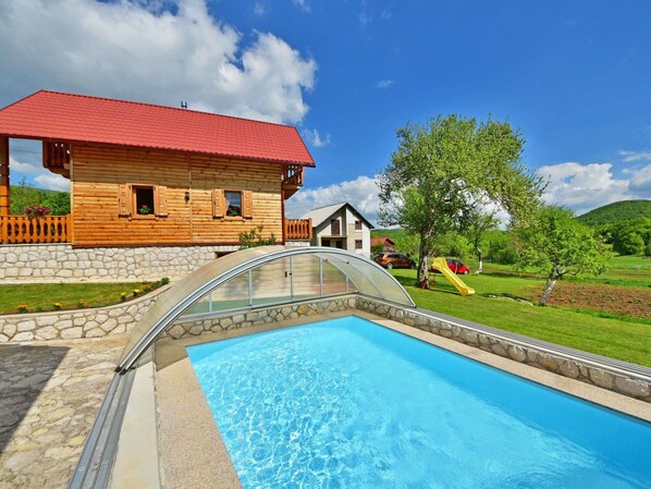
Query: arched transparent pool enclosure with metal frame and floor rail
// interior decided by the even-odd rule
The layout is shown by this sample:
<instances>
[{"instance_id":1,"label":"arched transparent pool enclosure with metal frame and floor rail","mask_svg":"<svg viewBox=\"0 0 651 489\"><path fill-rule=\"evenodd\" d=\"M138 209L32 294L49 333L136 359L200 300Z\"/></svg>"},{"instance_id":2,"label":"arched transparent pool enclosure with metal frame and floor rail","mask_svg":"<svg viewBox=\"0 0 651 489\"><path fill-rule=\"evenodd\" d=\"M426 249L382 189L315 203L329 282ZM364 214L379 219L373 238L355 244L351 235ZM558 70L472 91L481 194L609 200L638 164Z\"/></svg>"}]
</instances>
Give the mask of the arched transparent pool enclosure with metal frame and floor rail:
<instances>
[{"instance_id":1,"label":"arched transparent pool enclosure with metal frame and floor rail","mask_svg":"<svg viewBox=\"0 0 651 489\"><path fill-rule=\"evenodd\" d=\"M311 256L318 258L318 293L309 296L296 296L295 264L296 258ZM275 260L288 260L288 270L283 279L290 281L290 294L284 299L254 303L257 284L254 272ZM328 262L345 278L345 288L337 293L324 293L324 264ZM279 270L281 270L279 268ZM273 270L272 270L273 272ZM163 292L145 311L124 347L122 357L115 367L107 395L100 406L84 450L69 484L69 489L107 488L118 450L118 440L122 420L131 395L134 375L140 357L149 351L156 340L183 317L194 304L211 294L229 281L246 274L248 280L247 304L233 308L211 310L207 314L185 316L188 320L237 310L278 307L283 304L312 302L321 298L358 294L380 298L398 307L416 308L416 304L400 282L378 264L352 252L329 247L285 247L262 246L225 255L211 261L176 282ZM211 301L211 298L209 298Z\"/></svg>"}]
</instances>

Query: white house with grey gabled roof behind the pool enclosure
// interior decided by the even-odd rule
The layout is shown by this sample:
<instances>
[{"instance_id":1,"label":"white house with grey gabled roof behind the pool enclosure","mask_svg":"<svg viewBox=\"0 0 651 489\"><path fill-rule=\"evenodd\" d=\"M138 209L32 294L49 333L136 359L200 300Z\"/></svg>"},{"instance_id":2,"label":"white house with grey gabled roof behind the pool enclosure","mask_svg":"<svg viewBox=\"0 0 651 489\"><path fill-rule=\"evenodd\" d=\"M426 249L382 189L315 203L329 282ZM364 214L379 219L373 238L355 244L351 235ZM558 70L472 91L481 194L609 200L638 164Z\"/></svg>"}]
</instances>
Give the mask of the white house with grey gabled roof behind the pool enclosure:
<instances>
[{"instance_id":1,"label":"white house with grey gabled roof behind the pool enclosure","mask_svg":"<svg viewBox=\"0 0 651 489\"><path fill-rule=\"evenodd\" d=\"M373 225L351 204L319 207L306 212L302 219L311 219L312 246L347 249L370 258Z\"/></svg>"}]
</instances>

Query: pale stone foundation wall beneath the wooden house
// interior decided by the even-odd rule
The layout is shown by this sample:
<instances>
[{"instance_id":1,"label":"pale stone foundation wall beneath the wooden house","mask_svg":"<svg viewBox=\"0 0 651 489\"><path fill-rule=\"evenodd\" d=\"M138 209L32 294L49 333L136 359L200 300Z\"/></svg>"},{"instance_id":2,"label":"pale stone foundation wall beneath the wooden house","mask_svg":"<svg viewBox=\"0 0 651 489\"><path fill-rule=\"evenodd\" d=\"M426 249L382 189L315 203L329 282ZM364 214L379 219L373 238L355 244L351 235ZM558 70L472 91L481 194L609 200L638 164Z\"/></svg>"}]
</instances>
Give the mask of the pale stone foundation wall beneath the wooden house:
<instances>
[{"instance_id":1,"label":"pale stone foundation wall beneath the wooden house","mask_svg":"<svg viewBox=\"0 0 651 489\"><path fill-rule=\"evenodd\" d=\"M1 245L0 280L124 282L179 280L234 246L73 248L70 244Z\"/></svg>"}]
</instances>

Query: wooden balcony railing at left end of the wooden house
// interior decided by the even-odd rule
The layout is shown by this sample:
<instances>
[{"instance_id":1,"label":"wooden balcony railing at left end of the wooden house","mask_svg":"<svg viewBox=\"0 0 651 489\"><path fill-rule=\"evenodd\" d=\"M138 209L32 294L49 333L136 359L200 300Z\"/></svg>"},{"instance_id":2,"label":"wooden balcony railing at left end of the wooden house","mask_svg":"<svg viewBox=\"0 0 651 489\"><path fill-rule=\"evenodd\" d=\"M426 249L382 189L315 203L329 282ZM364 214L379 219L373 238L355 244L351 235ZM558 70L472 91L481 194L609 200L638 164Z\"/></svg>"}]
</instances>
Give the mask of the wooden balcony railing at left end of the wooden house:
<instances>
[{"instance_id":1,"label":"wooden balcony railing at left end of the wooden house","mask_svg":"<svg viewBox=\"0 0 651 489\"><path fill-rule=\"evenodd\" d=\"M0 216L1 244L70 243L72 217Z\"/></svg>"}]
</instances>

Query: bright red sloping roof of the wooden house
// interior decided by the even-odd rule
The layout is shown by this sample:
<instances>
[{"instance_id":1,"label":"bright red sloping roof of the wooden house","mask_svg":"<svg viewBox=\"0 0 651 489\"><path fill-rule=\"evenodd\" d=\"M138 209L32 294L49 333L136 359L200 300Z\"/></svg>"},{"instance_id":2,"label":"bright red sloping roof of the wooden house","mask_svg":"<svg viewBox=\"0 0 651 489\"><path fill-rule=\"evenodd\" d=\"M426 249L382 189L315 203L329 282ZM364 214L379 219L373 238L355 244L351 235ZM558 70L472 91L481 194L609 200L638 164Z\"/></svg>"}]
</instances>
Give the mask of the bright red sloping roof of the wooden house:
<instances>
[{"instance_id":1,"label":"bright red sloping roof of the wooden house","mask_svg":"<svg viewBox=\"0 0 651 489\"><path fill-rule=\"evenodd\" d=\"M0 135L315 166L290 125L48 90L1 109Z\"/></svg>"}]
</instances>

